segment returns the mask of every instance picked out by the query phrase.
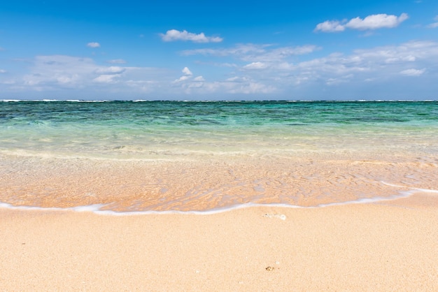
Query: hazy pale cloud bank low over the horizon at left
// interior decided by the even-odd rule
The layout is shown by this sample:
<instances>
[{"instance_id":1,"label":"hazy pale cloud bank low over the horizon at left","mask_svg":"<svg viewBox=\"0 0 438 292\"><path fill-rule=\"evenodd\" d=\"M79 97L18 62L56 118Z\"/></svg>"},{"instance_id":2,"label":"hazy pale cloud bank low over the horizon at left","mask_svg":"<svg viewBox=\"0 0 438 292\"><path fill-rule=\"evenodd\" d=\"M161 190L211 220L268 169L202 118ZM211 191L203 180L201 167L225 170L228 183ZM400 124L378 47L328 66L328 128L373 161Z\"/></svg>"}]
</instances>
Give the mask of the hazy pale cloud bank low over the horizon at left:
<instances>
[{"instance_id":1,"label":"hazy pale cloud bank low over the horizon at left","mask_svg":"<svg viewBox=\"0 0 438 292\"><path fill-rule=\"evenodd\" d=\"M160 68L99 66L93 59L64 55L37 56L27 60L27 73L6 80L10 90L26 92L152 92L169 85L169 71ZM6 84L6 82L2 82ZM14 89L15 88L15 89ZM58 97L61 95L57 95ZM56 96L55 96L56 97Z\"/></svg>"}]
</instances>

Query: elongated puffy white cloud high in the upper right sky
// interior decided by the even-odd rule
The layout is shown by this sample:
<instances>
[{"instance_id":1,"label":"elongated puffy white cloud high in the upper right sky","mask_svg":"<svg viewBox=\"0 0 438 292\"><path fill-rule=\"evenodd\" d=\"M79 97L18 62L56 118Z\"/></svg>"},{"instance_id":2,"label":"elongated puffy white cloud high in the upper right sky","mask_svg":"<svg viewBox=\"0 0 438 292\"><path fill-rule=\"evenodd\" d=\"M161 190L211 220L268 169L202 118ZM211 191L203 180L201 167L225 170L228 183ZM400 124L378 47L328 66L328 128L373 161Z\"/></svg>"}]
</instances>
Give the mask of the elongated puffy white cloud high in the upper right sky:
<instances>
[{"instance_id":1,"label":"elongated puffy white cloud high in the upper right sky","mask_svg":"<svg viewBox=\"0 0 438 292\"><path fill-rule=\"evenodd\" d=\"M355 17L351 20L327 20L316 25L314 31L338 32L345 29L372 30L383 28L394 28L409 18L407 13L400 16L388 15L385 13L368 15L365 18Z\"/></svg>"}]
</instances>

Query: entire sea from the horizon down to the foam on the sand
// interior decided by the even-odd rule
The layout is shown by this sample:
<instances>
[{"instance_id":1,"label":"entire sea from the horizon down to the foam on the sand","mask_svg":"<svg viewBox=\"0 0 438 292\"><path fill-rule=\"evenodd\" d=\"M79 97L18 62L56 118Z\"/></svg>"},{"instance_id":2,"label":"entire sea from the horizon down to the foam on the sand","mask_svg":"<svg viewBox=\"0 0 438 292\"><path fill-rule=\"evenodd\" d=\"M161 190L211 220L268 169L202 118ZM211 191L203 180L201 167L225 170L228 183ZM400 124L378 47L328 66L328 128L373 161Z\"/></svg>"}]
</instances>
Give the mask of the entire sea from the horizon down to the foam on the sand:
<instances>
[{"instance_id":1,"label":"entire sea from the horizon down to the foam on the sand","mask_svg":"<svg viewBox=\"0 0 438 292\"><path fill-rule=\"evenodd\" d=\"M7 207L381 202L438 189L438 102L4 100L0 177Z\"/></svg>"}]
</instances>

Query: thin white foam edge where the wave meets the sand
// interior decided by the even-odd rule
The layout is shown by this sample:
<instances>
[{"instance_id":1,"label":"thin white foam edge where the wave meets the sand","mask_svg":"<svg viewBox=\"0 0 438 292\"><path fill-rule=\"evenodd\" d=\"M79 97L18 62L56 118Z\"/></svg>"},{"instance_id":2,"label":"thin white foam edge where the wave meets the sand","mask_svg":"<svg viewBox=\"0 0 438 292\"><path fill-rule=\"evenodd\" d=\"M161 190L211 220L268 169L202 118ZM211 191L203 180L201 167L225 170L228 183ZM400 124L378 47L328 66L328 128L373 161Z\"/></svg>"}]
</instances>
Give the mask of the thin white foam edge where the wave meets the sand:
<instances>
[{"instance_id":1,"label":"thin white foam edge where the wave meets the sand","mask_svg":"<svg viewBox=\"0 0 438 292\"><path fill-rule=\"evenodd\" d=\"M395 186L395 185L394 185ZM399 186L395 186L399 187ZM10 210L38 210L38 211L74 211L74 212L92 212L99 215L111 215L111 216L129 216L129 215L145 215L145 214L196 214L196 215L209 215L218 214L222 212L228 212L232 210L243 209L247 207L284 207L284 208L295 208L295 209L316 209L320 207L331 207L331 206L341 206L341 205L351 205L351 204L365 204L365 203L379 203L388 200L397 200L399 198L407 198L416 193L433 193L438 194L438 190L435 189L411 189L409 191L399 191L399 194L387 197L373 197L373 198L359 198L357 200L348 200L345 202L334 202L327 204L319 204L316 206L299 206L299 205L289 205L285 203L272 203L272 204L260 204L260 203L243 203L239 205L233 205L230 207L218 207L212 210L206 211L113 211L113 210L101 210L107 204L94 204L94 205L84 205L76 207L34 207L34 206L14 206L9 203L0 202L0 208L6 208Z\"/></svg>"}]
</instances>

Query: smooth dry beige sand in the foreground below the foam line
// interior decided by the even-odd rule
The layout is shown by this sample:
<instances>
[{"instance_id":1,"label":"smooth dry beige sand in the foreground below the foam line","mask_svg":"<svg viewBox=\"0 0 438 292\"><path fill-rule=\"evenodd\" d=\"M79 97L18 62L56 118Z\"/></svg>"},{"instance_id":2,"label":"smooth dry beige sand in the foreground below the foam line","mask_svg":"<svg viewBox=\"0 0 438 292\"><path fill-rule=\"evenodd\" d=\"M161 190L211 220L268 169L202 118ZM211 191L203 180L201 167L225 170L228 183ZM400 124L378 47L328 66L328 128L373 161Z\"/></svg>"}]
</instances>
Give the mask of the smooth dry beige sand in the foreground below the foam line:
<instances>
[{"instance_id":1,"label":"smooth dry beige sand in the foreground below the foam line","mask_svg":"<svg viewBox=\"0 0 438 292\"><path fill-rule=\"evenodd\" d=\"M1 291L438 291L438 198L125 217L0 208L0 257Z\"/></svg>"}]
</instances>

